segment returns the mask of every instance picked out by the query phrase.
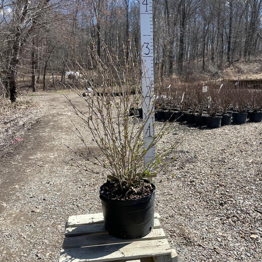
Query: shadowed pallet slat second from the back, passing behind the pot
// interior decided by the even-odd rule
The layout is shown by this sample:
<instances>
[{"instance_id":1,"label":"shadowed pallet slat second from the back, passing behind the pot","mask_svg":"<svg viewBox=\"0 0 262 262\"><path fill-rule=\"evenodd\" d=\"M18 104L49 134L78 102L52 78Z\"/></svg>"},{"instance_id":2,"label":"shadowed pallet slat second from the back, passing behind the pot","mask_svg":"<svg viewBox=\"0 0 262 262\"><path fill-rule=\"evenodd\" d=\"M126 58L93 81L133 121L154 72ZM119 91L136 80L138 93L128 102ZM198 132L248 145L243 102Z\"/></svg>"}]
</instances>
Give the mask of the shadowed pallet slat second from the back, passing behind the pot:
<instances>
[{"instance_id":1,"label":"shadowed pallet slat second from the back, passing behind the pot","mask_svg":"<svg viewBox=\"0 0 262 262\"><path fill-rule=\"evenodd\" d=\"M154 219L154 229L161 228L161 224L157 218ZM79 227L67 227L65 229L65 236L81 236L81 235L95 235L107 234L104 224L85 225Z\"/></svg>"}]
</instances>

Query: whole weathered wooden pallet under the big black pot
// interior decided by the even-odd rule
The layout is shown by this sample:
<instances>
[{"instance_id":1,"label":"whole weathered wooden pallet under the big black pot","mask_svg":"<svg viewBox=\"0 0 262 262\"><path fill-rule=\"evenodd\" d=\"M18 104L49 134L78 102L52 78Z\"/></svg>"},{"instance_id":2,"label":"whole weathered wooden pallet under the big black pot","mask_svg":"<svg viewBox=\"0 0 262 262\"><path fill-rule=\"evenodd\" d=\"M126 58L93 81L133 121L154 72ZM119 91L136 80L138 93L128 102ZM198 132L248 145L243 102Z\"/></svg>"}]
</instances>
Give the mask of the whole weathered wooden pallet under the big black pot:
<instances>
[{"instance_id":1,"label":"whole weathered wooden pallet under the big black pot","mask_svg":"<svg viewBox=\"0 0 262 262\"><path fill-rule=\"evenodd\" d=\"M154 228L136 239L110 236L104 227L102 213L75 215L68 218L59 262L177 262L177 253L161 228L160 216L155 213Z\"/></svg>"}]
</instances>

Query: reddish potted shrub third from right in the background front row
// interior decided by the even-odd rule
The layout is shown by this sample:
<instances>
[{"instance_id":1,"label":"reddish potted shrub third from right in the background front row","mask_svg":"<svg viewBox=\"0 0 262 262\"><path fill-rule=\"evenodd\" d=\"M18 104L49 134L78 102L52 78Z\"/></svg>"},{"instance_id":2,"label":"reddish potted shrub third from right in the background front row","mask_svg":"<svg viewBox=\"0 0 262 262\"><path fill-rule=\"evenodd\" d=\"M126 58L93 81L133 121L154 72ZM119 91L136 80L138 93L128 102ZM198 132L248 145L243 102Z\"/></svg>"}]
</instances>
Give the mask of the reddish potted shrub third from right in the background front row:
<instances>
[{"instance_id":1,"label":"reddish potted shrub third from right in the background front row","mask_svg":"<svg viewBox=\"0 0 262 262\"><path fill-rule=\"evenodd\" d=\"M219 91L220 104L219 109L221 112L222 120L221 125L230 125L232 112L229 111L232 104L232 89L228 85L223 85Z\"/></svg>"}]
</instances>

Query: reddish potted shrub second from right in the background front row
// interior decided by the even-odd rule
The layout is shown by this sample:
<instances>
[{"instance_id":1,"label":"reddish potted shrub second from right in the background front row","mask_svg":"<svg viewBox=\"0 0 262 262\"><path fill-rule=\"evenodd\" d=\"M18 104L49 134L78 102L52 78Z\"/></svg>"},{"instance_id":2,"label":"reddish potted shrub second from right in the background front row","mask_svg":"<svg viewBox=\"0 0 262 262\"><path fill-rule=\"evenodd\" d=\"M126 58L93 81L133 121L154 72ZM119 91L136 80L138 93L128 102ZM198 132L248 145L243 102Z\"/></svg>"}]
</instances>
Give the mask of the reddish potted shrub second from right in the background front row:
<instances>
[{"instance_id":1,"label":"reddish potted shrub second from right in the background front row","mask_svg":"<svg viewBox=\"0 0 262 262\"><path fill-rule=\"evenodd\" d=\"M247 112L245 111L245 104L247 99L247 90L243 87L237 86L232 92L234 112L232 113L232 123L244 124L247 121Z\"/></svg>"}]
</instances>

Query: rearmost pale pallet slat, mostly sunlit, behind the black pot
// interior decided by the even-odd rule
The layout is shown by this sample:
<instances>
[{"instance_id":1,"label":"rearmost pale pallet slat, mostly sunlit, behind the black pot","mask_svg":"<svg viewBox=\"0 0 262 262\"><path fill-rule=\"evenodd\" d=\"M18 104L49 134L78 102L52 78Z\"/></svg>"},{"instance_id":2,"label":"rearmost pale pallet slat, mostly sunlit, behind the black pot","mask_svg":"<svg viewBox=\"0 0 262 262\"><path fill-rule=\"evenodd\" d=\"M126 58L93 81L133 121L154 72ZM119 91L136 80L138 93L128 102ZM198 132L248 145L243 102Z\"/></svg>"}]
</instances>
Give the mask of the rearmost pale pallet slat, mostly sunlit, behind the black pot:
<instances>
[{"instance_id":1,"label":"rearmost pale pallet slat, mostly sunlit, behind the black pot","mask_svg":"<svg viewBox=\"0 0 262 262\"><path fill-rule=\"evenodd\" d=\"M155 213L154 218L158 218L160 222L160 215ZM104 224L103 213L85 214L85 215L71 215L68 218L66 227L79 227L83 225Z\"/></svg>"}]
</instances>

